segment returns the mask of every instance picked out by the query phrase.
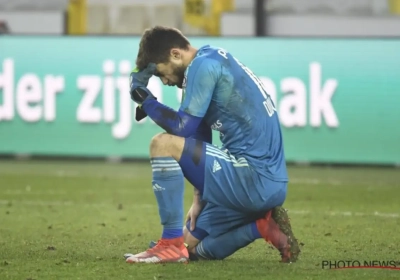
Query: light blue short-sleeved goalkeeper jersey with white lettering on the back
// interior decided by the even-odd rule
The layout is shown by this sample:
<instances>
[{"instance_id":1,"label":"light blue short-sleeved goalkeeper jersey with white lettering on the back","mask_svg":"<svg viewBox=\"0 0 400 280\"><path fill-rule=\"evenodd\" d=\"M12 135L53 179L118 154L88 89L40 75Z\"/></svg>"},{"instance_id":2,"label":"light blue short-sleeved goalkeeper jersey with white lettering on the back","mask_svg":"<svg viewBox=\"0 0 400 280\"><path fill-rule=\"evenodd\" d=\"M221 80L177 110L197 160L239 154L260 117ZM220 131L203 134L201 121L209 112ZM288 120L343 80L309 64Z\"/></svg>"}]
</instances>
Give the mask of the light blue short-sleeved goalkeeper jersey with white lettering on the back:
<instances>
[{"instance_id":1,"label":"light blue short-sleeved goalkeeper jersey with white lettering on the back","mask_svg":"<svg viewBox=\"0 0 400 280\"><path fill-rule=\"evenodd\" d=\"M203 117L222 148L262 176L288 181L275 105L253 72L227 51L203 46L185 72L180 110Z\"/></svg>"}]
</instances>

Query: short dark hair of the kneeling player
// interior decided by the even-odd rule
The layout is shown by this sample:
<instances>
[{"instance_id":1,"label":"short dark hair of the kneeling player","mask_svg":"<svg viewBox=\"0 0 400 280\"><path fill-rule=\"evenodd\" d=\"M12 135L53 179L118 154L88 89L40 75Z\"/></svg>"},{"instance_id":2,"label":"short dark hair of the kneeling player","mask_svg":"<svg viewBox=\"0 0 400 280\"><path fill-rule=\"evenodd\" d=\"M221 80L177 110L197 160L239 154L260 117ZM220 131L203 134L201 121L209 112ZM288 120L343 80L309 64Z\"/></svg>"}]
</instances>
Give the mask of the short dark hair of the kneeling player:
<instances>
[{"instance_id":1,"label":"short dark hair of the kneeling player","mask_svg":"<svg viewBox=\"0 0 400 280\"><path fill-rule=\"evenodd\" d=\"M189 40L176 28L155 26L146 29L139 44L136 67L142 70L150 62L166 63L173 48L189 49Z\"/></svg>"}]
</instances>

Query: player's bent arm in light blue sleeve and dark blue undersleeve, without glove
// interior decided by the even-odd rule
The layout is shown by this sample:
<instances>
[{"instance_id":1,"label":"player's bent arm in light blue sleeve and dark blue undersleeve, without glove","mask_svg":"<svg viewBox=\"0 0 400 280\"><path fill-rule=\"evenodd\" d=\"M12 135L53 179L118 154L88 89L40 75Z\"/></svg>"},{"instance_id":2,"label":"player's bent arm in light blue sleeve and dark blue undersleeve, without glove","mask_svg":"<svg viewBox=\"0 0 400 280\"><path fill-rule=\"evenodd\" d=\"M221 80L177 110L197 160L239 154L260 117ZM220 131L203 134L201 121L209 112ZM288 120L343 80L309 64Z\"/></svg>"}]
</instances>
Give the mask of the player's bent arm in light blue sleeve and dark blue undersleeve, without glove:
<instances>
[{"instance_id":1,"label":"player's bent arm in light blue sleeve and dark blue undersleeve, without glove","mask_svg":"<svg viewBox=\"0 0 400 280\"><path fill-rule=\"evenodd\" d=\"M211 102L218 79L216 67L213 60L193 62L187 73L186 97L178 111L154 98L145 98L142 109L166 132L181 137L193 137ZM204 131L202 128L200 130ZM209 140L210 136L207 137Z\"/></svg>"}]
</instances>

